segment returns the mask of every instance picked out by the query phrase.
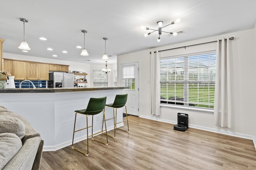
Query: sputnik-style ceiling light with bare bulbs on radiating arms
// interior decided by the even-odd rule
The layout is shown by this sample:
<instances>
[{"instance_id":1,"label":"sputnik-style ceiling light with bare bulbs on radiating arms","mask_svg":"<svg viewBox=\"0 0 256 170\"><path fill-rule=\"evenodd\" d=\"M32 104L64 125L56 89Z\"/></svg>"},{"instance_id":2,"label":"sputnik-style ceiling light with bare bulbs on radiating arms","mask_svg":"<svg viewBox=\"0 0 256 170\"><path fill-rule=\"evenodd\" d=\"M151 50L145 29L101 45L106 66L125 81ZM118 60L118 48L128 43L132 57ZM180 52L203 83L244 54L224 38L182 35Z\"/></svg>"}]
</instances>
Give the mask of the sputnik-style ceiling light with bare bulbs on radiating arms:
<instances>
[{"instance_id":1,"label":"sputnik-style ceiling light with bare bulbs on radiating arms","mask_svg":"<svg viewBox=\"0 0 256 170\"><path fill-rule=\"evenodd\" d=\"M153 33L153 32L158 31L158 35L159 35L159 36L158 36L157 42L160 42L160 35L162 34L162 32L164 32L164 31L162 31L162 28L167 27L167 26L172 25L172 24L179 23L180 21L181 21L180 18L178 18L178 19L176 19L175 21L173 21L171 24L168 24L168 25L166 25L166 26L163 26L164 22L158 21L158 22L156 23L156 24L158 25L158 29L157 29L157 30L150 29L150 28L145 27L145 26L141 26L141 28L144 29L144 30L153 30L152 32L149 32L149 33L144 34L145 37L149 36L149 35L150 35L151 33ZM181 31L178 31L178 32L164 32L164 33L168 33L168 34L171 34L171 35L173 35L173 36L177 36L178 34L184 33L184 31L181 30Z\"/></svg>"}]
</instances>

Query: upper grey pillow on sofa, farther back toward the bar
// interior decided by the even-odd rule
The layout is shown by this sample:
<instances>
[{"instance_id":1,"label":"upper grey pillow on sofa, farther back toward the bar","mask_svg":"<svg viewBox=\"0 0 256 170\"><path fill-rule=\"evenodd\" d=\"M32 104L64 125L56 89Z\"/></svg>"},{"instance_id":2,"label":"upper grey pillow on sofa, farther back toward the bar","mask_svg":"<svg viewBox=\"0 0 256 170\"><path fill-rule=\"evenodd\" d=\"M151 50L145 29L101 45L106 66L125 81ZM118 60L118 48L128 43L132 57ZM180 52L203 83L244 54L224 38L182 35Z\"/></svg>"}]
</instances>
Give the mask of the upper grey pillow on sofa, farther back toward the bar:
<instances>
[{"instance_id":1,"label":"upper grey pillow on sofa, farther back toward the bar","mask_svg":"<svg viewBox=\"0 0 256 170\"><path fill-rule=\"evenodd\" d=\"M25 124L17 117L0 117L0 133L14 133L20 139L25 136Z\"/></svg>"}]
</instances>

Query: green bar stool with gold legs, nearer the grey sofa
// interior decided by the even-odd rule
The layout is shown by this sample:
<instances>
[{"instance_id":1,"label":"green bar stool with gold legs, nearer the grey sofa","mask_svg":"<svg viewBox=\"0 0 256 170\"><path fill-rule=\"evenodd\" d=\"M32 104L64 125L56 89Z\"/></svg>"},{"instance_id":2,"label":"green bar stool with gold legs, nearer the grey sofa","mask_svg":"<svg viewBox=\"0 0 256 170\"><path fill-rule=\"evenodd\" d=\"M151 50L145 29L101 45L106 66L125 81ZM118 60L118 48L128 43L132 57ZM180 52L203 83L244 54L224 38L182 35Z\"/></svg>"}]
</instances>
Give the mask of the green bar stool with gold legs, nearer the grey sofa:
<instances>
[{"instance_id":1,"label":"green bar stool with gold legs, nearer the grey sofa","mask_svg":"<svg viewBox=\"0 0 256 170\"><path fill-rule=\"evenodd\" d=\"M108 135L107 135L107 128L106 128L105 112L104 112L104 108L105 108L105 105L106 105L106 98L107 98L107 97L102 97L102 98L90 98L89 103L88 103L86 109L82 109L82 110L77 110L77 111L75 111L75 112L76 112L76 115L77 115L77 113L80 113L80 114L82 114L82 115L86 115L86 128L81 128L81 129L79 129L79 130L75 130L75 127L76 127L76 117L75 117L74 132L73 132L73 139L72 139L72 149L77 150L78 152L81 152L81 153L84 154L85 156L88 156L88 155L89 155L89 146L88 146L88 138L89 138L89 137L92 137L92 140L96 140L96 141L98 141L98 142L101 142L101 143L103 143L103 144L108 145ZM97 114L99 114L99 113L101 113L101 112L103 112L102 131L93 134L93 116L94 116L94 115L97 115ZM92 115L92 126L89 126L89 127L88 127L88 116L90 116L90 115ZM103 130L103 123L105 123L105 130ZM92 127L92 134L91 134L91 135L88 135L88 128L90 128L90 127ZM84 130L84 129L87 130L87 153L82 152L81 150L78 150L77 148L75 148L75 147L73 146L73 143L74 143L74 134L75 134L75 132L78 132L78 131ZM104 131L106 131L106 141L107 141L107 142L102 142L102 141L100 141L100 140L97 140L97 139L93 138L93 135L98 134L98 133L103 133Z\"/></svg>"}]
</instances>

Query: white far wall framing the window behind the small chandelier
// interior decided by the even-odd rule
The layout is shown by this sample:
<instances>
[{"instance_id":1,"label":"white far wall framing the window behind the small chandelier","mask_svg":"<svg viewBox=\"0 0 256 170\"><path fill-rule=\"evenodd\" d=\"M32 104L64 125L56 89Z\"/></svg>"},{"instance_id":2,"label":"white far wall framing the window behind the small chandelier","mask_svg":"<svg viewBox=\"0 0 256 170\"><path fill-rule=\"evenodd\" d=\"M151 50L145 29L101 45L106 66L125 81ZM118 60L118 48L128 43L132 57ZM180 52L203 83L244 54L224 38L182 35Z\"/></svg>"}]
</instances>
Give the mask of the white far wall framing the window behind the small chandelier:
<instances>
[{"instance_id":1,"label":"white far wall framing the window behind the small chandelier","mask_svg":"<svg viewBox=\"0 0 256 170\"><path fill-rule=\"evenodd\" d=\"M94 70L102 70L105 68L106 63L104 64L91 64L90 69L90 87L93 87L93 71ZM114 71L116 70L116 64L108 65L108 69L111 69L110 73L108 73L108 87L114 87Z\"/></svg>"}]
</instances>

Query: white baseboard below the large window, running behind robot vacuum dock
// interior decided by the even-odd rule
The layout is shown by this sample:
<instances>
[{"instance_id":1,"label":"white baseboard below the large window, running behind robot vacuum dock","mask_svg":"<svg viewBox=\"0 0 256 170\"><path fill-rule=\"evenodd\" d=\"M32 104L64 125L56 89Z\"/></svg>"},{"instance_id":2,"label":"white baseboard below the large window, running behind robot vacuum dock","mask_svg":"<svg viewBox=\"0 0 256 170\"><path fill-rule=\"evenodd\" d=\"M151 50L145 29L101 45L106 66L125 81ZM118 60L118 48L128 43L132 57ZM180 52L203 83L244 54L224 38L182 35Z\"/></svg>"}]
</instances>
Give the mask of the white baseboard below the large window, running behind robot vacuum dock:
<instances>
[{"instance_id":1,"label":"white baseboard below the large window, running behind robot vacuum dock","mask_svg":"<svg viewBox=\"0 0 256 170\"><path fill-rule=\"evenodd\" d=\"M160 121L160 122L164 122L164 123L171 123L171 124L174 124L174 125L177 124L176 121L168 121L168 120L165 120L165 119L159 119L157 117L149 117L149 116L143 116L143 115L140 115L139 117L154 120L154 121ZM226 135L229 135L229 136L235 136L235 137L239 137L239 138L250 139L250 140L253 141L254 147L255 147L255 150L256 150L256 138L254 136L250 136L250 135L247 135L247 134L241 134L241 133L235 133L235 132L227 132L225 130L207 128L207 127L191 125L191 124L188 124L188 125L191 128L196 128L196 129L205 130L205 131L209 131L209 132L220 133L220 134L226 134Z\"/></svg>"}]
</instances>

